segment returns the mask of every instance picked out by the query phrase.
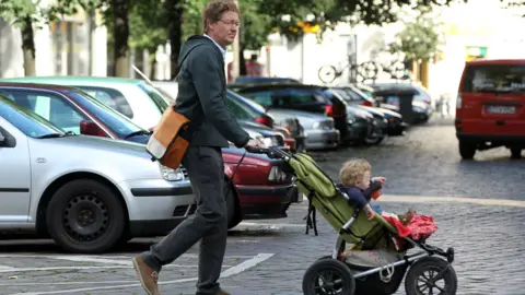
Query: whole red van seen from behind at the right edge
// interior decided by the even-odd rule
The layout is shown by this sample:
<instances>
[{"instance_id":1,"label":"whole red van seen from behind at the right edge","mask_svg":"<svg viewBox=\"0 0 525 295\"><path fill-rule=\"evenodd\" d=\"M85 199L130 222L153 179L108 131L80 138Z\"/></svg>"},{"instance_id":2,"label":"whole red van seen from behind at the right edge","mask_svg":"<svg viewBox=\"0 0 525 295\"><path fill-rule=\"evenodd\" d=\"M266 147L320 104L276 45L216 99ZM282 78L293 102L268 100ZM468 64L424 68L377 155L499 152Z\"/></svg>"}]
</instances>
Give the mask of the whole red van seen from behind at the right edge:
<instances>
[{"instance_id":1,"label":"whole red van seen from behind at the right edge","mask_svg":"<svg viewBox=\"0 0 525 295\"><path fill-rule=\"evenodd\" d=\"M456 102L459 154L506 146L513 158L525 149L525 59L475 60L465 64Z\"/></svg>"}]
</instances>

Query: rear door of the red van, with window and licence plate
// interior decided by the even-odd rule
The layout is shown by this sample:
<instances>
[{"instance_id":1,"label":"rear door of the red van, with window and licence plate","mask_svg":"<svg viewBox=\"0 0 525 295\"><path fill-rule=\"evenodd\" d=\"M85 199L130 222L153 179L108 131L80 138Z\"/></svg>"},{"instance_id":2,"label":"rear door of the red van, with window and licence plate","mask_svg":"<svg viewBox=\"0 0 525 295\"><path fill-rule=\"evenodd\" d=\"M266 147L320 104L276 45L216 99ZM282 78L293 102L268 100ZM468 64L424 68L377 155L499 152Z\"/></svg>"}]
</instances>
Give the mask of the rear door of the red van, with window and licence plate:
<instances>
[{"instance_id":1,"label":"rear door of the red van, with window and licence plate","mask_svg":"<svg viewBox=\"0 0 525 295\"><path fill-rule=\"evenodd\" d=\"M467 63L458 98L463 132L525 135L525 61Z\"/></svg>"}]
</instances>

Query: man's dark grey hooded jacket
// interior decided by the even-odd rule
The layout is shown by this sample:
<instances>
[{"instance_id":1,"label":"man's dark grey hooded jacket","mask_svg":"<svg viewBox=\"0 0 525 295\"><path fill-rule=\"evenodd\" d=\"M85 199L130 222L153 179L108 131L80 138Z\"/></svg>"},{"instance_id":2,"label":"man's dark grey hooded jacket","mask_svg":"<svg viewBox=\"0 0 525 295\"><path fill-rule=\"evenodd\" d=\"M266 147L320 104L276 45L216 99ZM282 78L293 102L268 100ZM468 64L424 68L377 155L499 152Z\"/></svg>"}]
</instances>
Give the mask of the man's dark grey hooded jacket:
<instances>
[{"instance_id":1,"label":"man's dark grey hooded jacket","mask_svg":"<svg viewBox=\"0 0 525 295\"><path fill-rule=\"evenodd\" d=\"M175 110L201 122L191 145L228 148L231 141L245 146L249 134L228 108L224 59L217 45L206 36L191 36L180 49L180 61Z\"/></svg>"}]
</instances>

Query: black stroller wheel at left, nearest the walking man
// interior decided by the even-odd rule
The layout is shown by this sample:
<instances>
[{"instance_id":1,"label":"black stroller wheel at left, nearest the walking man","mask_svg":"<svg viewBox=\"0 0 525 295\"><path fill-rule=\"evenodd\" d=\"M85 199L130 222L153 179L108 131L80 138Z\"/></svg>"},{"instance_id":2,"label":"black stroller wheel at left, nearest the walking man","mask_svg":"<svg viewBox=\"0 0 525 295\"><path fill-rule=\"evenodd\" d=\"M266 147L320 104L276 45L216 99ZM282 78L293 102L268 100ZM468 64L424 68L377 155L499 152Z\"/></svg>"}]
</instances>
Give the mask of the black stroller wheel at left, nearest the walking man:
<instances>
[{"instance_id":1,"label":"black stroller wheel at left, nearest the walking man","mask_svg":"<svg viewBox=\"0 0 525 295\"><path fill-rule=\"evenodd\" d=\"M303 276L305 295L353 295L355 281L343 262L331 258L315 261Z\"/></svg>"}]
</instances>

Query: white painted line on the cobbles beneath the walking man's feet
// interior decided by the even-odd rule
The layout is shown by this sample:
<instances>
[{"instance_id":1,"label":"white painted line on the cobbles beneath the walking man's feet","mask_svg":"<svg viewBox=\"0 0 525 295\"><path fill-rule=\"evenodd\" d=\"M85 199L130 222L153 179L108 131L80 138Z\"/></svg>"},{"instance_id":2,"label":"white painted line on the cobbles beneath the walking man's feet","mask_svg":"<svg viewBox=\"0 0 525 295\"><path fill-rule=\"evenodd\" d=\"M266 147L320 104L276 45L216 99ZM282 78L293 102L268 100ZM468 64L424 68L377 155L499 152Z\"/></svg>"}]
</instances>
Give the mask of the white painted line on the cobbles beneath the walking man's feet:
<instances>
[{"instance_id":1,"label":"white painted line on the cobbles beneath the walking man's feet","mask_svg":"<svg viewBox=\"0 0 525 295\"><path fill-rule=\"evenodd\" d=\"M244 272L255 266L270 259L273 253L258 253L250 259L241 262L240 264L232 267L221 273L221 279L225 279L241 272ZM192 282L197 281L198 278L188 278L188 279L179 279L174 281L165 281L159 282L159 285L167 285L167 284L176 284L176 283L184 283L184 282ZM101 282L102 283L102 282ZM85 284L85 283L84 283ZM77 292L90 292L90 291L97 291L97 290L113 290L113 288L126 288L126 287L137 287L141 286L140 283L135 284L125 284L125 285L113 285L113 286L98 286L98 287L84 287L84 288L73 288L73 290L59 290L59 291L47 291L47 292L33 292L33 293L16 293L13 295L43 295L43 294L62 294L62 293L77 293Z\"/></svg>"}]
</instances>

